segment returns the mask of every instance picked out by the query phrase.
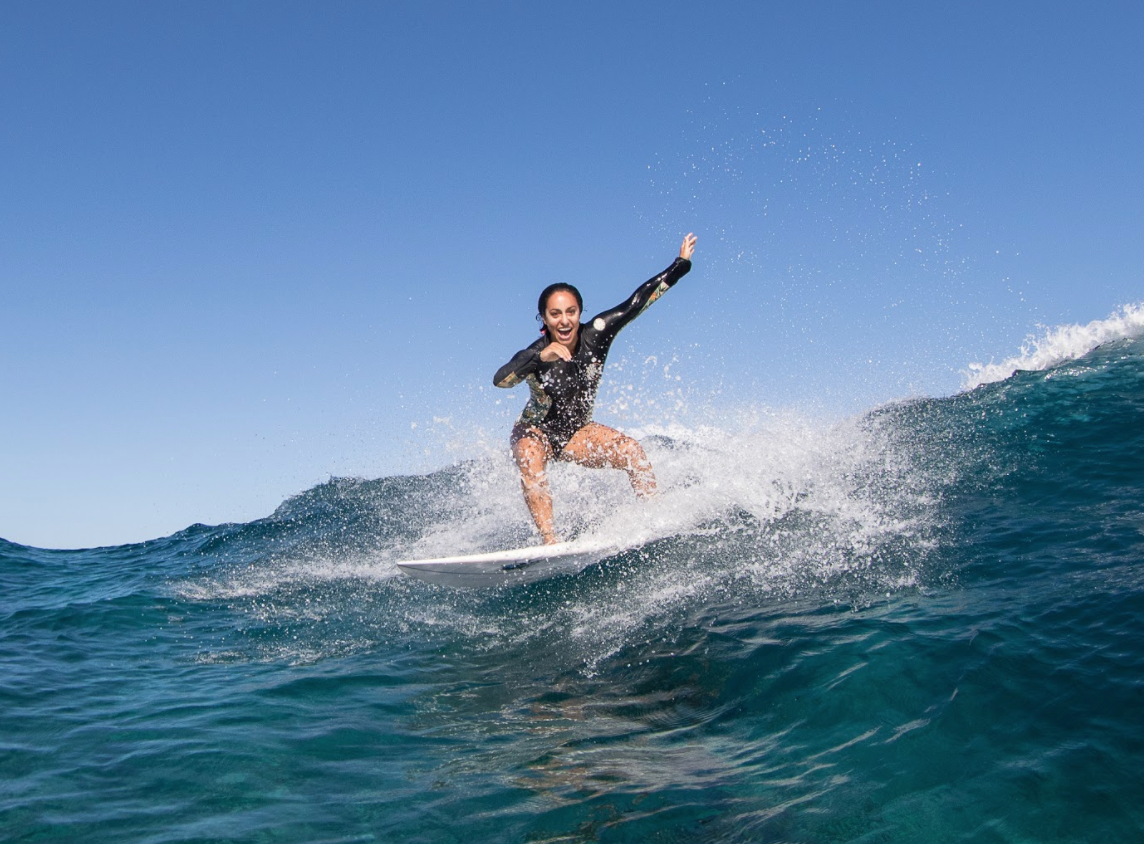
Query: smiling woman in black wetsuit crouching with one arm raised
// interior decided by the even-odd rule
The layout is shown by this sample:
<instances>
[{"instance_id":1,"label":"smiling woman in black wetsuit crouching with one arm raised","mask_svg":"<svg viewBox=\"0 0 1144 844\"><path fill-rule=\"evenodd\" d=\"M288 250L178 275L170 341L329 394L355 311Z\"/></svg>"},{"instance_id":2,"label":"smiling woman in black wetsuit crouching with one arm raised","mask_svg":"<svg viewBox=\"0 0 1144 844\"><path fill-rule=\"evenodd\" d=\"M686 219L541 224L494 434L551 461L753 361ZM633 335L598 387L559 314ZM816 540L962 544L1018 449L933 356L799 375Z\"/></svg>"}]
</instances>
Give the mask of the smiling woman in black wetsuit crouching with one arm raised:
<instances>
[{"instance_id":1,"label":"smiling woman in black wetsuit crouching with one arm raised","mask_svg":"<svg viewBox=\"0 0 1144 844\"><path fill-rule=\"evenodd\" d=\"M696 236L688 234L680 257L644 281L621 304L580 323L583 300L572 285L546 287L537 303L540 339L496 371L496 387L527 382L530 397L513 425L513 457L521 470L524 501L546 544L557 542L553 496L548 489L549 460L593 469L622 469L642 499L656 494L656 475L643 447L613 428L591 421L604 360L620 329L662 296L691 269Z\"/></svg>"}]
</instances>

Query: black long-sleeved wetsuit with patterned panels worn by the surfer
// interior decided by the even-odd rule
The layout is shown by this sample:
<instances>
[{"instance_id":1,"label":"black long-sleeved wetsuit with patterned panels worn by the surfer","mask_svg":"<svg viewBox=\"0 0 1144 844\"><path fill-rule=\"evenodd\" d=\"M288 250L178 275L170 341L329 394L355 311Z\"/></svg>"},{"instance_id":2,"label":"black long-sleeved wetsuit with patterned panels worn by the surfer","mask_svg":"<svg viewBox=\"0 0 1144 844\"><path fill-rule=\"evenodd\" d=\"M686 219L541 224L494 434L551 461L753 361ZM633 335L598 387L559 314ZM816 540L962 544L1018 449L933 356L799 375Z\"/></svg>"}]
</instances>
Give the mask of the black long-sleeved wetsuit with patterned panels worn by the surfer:
<instances>
[{"instance_id":1,"label":"black long-sleeved wetsuit with patterned panels worn by the surfer","mask_svg":"<svg viewBox=\"0 0 1144 844\"><path fill-rule=\"evenodd\" d=\"M532 395L517 422L537 428L548 437L553 452L559 454L572 436L591 421L596 390L604 374L604 359L620 329L643 313L657 298L691 269L686 258L675 262L654 278L644 281L622 304L580 324L580 336L571 360L545 363L540 352L551 341L542 335L527 349L496 371L496 387L529 382Z\"/></svg>"}]
</instances>

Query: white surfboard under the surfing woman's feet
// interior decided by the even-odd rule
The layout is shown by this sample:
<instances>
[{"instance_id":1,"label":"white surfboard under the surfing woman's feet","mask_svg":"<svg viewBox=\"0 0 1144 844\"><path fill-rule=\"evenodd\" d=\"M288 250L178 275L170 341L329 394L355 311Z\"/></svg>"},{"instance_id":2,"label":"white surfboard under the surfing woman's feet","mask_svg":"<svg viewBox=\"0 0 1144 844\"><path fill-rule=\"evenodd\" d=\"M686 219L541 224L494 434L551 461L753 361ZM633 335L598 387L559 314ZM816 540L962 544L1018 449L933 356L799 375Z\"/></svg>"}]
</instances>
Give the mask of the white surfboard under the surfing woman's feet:
<instances>
[{"instance_id":1,"label":"white surfboard under the surfing woman's feet","mask_svg":"<svg viewBox=\"0 0 1144 844\"><path fill-rule=\"evenodd\" d=\"M622 550L612 542L558 542L555 546L460 557L410 559L397 566L411 578L460 588L531 583L554 574L575 573Z\"/></svg>"}]
</instances>

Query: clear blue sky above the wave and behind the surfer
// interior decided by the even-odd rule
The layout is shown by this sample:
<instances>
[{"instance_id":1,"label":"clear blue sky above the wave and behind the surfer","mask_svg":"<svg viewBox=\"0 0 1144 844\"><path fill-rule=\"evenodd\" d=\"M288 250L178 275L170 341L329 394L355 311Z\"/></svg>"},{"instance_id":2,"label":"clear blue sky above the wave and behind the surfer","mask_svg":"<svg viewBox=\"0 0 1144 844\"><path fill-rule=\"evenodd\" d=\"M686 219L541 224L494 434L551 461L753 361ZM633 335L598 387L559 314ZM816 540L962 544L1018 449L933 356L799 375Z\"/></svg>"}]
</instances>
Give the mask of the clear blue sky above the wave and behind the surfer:
<instances>
[{"instance_id":1,"label":"clear blue sky above the wave and behind the surfer","mask_svg":"<svg viewBox=\"0 0 1144 844\"><path fill-rule=\"evenodd\" d=\"M613 388L953 392L1144 298L1142 35L1130 2L7 0L0 536L501 447L539 288L612 305L691 230Z\"/></svg>"}]
</instances>

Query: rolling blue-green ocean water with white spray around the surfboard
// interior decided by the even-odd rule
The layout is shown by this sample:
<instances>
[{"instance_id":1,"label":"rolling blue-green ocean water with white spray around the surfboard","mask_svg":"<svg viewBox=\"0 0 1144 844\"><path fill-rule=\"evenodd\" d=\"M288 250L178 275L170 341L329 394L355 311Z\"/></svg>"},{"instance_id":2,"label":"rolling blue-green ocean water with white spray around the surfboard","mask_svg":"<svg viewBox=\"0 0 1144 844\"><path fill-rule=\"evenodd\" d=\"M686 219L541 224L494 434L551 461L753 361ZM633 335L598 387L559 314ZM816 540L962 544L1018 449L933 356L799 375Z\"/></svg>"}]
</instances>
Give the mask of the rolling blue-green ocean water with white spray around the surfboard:
<instances>
[{"instance_id":1,"label":"rolling blue-green ocean water with white spray around the surfboard","mask_svg":"<svg viewBox=\"0 0 1144 844\"><path fill-rule=\"evenodd\" d=\"M1144 342L843 423L557 467L630 551L531 542L507 457L120 548L0 541L0 837L1107 842L1144 817Z\"/></svg>"}]
</instances>

